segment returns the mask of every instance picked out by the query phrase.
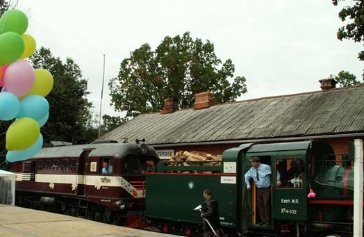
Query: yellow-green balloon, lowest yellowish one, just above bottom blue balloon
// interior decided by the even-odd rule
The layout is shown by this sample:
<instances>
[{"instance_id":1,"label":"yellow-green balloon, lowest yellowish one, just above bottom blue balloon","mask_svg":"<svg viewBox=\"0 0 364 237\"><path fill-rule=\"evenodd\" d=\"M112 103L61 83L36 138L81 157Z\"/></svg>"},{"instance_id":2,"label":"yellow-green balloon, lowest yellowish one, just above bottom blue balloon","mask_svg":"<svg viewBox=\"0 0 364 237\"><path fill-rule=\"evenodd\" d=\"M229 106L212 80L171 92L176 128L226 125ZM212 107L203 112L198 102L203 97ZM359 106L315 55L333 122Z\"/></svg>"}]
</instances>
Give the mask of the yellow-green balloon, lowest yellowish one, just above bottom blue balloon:
<instances>
[{"instance_id":1,"label":"yellow-green balloon, lowest yellowish one, just above bottom blue balloon","mask_svg":"<svg viewBox=\"0 0 364 237\"><path fill-rule=\"evenodd\" d=\"M38 140L39 134L39 124L32 118L15 120L6 131L6 149L13 151L31 147Z\"/></svg>"}]
</instances>

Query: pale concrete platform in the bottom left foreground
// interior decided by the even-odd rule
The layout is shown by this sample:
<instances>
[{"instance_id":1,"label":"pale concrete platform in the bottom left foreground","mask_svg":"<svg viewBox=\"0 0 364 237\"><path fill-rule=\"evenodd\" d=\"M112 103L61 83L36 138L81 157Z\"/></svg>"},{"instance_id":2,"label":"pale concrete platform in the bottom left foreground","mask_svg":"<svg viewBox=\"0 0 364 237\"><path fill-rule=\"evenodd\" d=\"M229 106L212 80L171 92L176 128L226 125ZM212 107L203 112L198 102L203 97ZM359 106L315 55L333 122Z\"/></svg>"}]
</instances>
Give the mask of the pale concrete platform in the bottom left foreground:
<instances>
[{"instance_id":1,"label":"pale concrete platform in the bottom left foreground","mask_svg":"<svg viewBox=\"0 0 364 237\"><path fill-rule=\"evenodd\" d=\"M169 237L172 235L0 204L0 236Z\"/></svg>"}]
</instances>

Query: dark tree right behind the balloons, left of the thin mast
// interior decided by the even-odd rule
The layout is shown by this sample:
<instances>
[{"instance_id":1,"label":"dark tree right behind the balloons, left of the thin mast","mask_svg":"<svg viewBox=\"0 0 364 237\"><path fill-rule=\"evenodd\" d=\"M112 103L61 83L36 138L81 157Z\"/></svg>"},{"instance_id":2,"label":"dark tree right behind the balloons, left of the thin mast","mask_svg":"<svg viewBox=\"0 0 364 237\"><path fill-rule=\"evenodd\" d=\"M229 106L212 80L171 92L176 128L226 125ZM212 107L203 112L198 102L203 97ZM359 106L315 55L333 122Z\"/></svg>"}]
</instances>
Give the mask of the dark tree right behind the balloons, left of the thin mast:
<instances>
[{"instance_id":1,"label":"dark tree right behind the balloons, left of the thin mast","mask_svg":"<svg viewBox=\"0 0 364 237\"><path fill-rule=\"evenodd\" d=\"M90 108L92 103L86 96L88 82L82 78L81 69L72 58L65 63L41 47L30 58L34 68L44 68L53 75L53 89L47 95L49 120L42 127L44 140L64 140L73 143L90 142L97 133L90 136L92 128ZM93 134L93 133L92 133Z\"/></svg>"}]
</instances>

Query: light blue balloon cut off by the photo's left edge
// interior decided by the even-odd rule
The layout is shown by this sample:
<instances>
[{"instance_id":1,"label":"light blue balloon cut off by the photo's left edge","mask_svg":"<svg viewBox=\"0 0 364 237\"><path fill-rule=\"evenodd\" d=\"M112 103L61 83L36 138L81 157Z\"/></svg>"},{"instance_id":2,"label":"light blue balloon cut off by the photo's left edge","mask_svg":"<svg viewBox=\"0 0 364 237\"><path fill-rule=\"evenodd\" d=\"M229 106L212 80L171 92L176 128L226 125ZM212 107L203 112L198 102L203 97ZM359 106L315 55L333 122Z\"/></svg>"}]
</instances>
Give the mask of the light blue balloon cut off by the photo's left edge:
<instances>
[{"instance_id":1,"label":"light blue balloon cut off by the photo's left edge","mask_svg":"<svg viewBox=\"0 0 364 237\"><path fill-rule=\"evenodd\" d=\"M20 102L17 96L10 92L0 93L0 120L13 120L19 113Z\"/></svg>"}]
</instances>

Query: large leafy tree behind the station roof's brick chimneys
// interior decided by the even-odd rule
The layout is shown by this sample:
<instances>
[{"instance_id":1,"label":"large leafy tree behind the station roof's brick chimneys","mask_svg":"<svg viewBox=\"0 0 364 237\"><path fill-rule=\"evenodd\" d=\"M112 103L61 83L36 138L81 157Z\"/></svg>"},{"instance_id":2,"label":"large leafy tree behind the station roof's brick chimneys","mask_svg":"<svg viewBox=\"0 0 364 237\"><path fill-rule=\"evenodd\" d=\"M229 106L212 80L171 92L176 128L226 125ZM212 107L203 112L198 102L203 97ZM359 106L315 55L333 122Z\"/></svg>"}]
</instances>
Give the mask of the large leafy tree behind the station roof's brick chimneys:
<instances>
[{"instance_id":1,"label":"large leafy tree behind the station roof's brick chimneys","mask_svg":"<svg viewBox=\"0 0 364 237\"><path fill-rule=\"evenodd\" d=\"M108 85L115 111L126 111L129 118L160 111L167 97L179 108L192 107L195 94L208 90L216 104L234 101L247 92L245 78L233 79L234 71L230 59L222 63L217 58L210 41L193 40L186 32L165 37L155 51L149 44L135 49Z\"/></svg>"}]
</instances>

